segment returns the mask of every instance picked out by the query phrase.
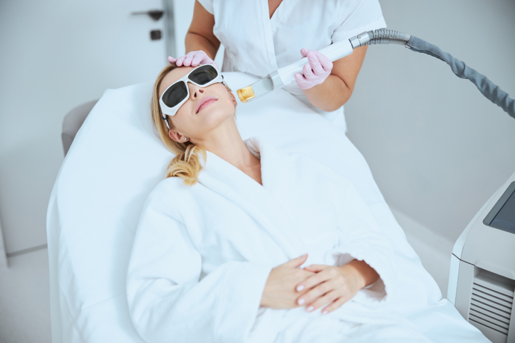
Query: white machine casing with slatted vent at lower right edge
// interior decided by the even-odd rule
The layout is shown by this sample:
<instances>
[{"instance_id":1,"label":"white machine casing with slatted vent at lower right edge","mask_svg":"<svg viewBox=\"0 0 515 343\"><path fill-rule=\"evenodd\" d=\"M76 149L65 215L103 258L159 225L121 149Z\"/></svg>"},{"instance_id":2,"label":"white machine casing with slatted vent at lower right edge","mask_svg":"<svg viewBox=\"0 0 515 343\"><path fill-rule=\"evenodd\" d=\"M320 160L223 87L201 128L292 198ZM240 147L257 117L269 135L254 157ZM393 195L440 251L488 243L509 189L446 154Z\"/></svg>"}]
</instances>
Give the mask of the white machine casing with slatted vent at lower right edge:
<instances>
[{"instance_id":1,"label":"white machine casing with slatted vent at lower right edge","mask_svg":"<svg viewBox=\"0 0 515 343\"><path fill-rule=\"evenodd\" d=\"M501 210L514 187L515 173L477 212L451 255L447 298L493 343L515 342L515 234L484 221Z\"/></svg>"}]
</instances>

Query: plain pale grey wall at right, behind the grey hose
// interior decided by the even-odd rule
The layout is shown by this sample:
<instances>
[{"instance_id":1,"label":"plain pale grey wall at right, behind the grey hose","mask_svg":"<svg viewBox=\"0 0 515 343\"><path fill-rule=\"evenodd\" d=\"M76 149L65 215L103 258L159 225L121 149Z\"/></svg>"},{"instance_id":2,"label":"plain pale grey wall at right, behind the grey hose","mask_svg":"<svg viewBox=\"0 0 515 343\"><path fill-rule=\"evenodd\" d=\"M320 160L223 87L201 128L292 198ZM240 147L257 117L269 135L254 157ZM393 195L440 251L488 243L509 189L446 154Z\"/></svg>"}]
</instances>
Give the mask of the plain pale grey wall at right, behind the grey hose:
<instances>
[{"instance_id":1,"label":"plain pale grey wall at right, behind the grey hose","mask_svg":"<svg viewBox=\"0 0 515 343\"><path fill-rule=\"evenodd\" d=\"M380 0L389 29L439 46L515 98L513 0ZM515 171L515 120L444 62L370 46L348 136L387 203L455 241Z\"/></svg>"}]
</instances>

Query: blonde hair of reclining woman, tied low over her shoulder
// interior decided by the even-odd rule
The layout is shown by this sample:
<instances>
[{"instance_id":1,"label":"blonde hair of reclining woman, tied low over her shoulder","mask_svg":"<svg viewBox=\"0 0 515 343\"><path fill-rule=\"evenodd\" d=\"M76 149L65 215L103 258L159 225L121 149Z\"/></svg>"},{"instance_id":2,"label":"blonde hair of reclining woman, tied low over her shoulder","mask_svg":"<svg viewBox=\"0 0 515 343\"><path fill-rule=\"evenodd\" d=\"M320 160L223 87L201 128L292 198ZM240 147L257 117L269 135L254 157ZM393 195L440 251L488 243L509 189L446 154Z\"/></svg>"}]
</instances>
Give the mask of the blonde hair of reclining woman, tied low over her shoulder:
<instances>
[{"instance_id":1,"label":"blonde hair of reclining woman, tied low over her shoulder","mask_svg":"<svg viewBox=\"0 0 515 343\"><path fill-rule=\"evenodd\" d=\"M198 174L202 170L200 156L204 158L204 162L207 159L205 149L201 146L196 146L189 140L181 143L171 139L168 134L169 130L163 119L161 107L159 106L159 87L161 86L161 82L163 82L164 77L175 68L179 67L175 63L170 63L159 73L152 91L150 112L152 114L152 122L158 131L159 138L161 138L161 141L171 152L176 154L168 165L166 177L181 177L184 179L185 185L193 186L197 183ZM231 93L231 88L229 88L225 83L224 85L227 88L227 92ZM173 129L174 125L171 122L170 117L167 118L170 129ZM234 118L236 118L236 111L234 112Z\"/></svg>"}]
</instances>

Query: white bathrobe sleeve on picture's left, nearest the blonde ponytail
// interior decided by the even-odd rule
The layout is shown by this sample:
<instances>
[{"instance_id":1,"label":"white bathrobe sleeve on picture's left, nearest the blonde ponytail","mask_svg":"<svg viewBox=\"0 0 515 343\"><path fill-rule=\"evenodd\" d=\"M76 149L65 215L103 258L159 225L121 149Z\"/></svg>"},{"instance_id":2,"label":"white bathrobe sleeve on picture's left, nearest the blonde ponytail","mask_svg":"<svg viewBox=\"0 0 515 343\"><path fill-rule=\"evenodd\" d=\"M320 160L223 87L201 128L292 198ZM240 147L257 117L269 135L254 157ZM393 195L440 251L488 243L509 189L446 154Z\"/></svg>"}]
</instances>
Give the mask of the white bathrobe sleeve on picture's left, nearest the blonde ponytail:
<instances>
[{"instance_id":1,"label":"white bathrobe sleeve on picture's left, nearest the blonde ponytail","mask_svg":"<svg viewBox=\"0 0 515 343\"><path fill-rule=\"evenodd\" d=\"M181 196L160 187L166 181L147 199L135 235L127 275L134 326L148 343L245 342L272 266L229 261L200 279L202 256L177 219Z\"/></svg>"}]
</instances>

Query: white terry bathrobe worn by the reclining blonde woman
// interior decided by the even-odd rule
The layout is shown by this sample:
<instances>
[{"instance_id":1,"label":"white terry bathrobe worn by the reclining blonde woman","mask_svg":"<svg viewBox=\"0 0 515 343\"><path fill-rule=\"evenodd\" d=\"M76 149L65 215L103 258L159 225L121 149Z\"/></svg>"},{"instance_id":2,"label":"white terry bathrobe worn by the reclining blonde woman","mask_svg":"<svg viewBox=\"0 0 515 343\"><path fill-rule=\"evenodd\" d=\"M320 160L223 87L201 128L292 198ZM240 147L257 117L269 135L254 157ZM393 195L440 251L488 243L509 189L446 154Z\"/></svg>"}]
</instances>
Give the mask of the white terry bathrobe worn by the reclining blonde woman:
<instances>
[{"instance_id":1,"label":"white terry bathrobe worn by the reclining blonde woman","mask_svg":"<svg viewBox=\"0 0 515 343\"><path fill-rule=\"evenodd\" d=\"M384 332L382 341L427 341L394 313L392 244L349 180L263 139L245 143L261 159L263 186L208 151L197 184L170 177L149 195L127 280L140 335L149 343L331 343L367 341L373 329L374 340ZM261 307L271 268L305 252L301 267L358 259L380 278L327 315Z\"/></svg>"}]
</instances>

